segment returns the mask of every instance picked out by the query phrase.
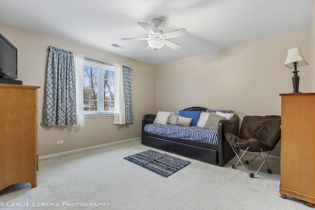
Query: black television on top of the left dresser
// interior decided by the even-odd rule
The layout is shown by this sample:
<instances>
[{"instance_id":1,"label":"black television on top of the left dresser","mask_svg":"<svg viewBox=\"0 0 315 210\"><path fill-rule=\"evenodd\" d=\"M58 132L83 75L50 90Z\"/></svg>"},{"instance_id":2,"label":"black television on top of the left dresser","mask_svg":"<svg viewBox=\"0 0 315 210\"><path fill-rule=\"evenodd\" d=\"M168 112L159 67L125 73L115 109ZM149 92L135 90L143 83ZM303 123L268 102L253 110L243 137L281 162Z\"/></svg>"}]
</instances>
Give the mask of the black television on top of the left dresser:
<instances>
[{"instance_id":1,"label":"black television on top of the left dresser","mask_svg":"<svg viewBox=\"0 0 315 210\"><path fill-rule=\"evenodd\" d=\"M0 83L18 78L18 49L0 33ZM7 82L2 82L6 81Z\"/></svg>"}]
</instances>

